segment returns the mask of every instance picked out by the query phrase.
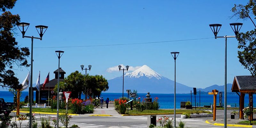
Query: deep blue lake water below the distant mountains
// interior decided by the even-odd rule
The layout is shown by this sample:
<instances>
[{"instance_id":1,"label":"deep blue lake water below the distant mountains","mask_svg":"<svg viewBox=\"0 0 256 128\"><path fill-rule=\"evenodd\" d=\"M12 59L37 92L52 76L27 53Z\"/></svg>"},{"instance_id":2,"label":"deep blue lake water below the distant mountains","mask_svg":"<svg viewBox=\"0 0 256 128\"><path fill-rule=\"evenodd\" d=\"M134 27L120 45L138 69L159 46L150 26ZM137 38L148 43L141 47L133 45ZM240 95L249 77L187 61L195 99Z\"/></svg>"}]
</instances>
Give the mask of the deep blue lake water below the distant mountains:
<instances>
[{"instance_id":1,"label":"deep blue lake water below the distant mountains","mask_svg":"<svg viewBox=\"0 0 256 128\"><path fill-rule=\"evenodd\" d=\"M22 92L20 101L24 101L26 95L28 95L28 92ZM34 92L34 100L36 92ZM138 97L141 99L146 98L146 93L138 93ZM174 94L154 94L150 93L152 100L154 100L155 97L159 98L159 103L160 103L160 108L174 108ZM101 96L103 97L104 100L109 98L109 100L114 100L117 98L122 98L122 93L101 93ZM100 97L101 97L100 96ZM82 98L84 95L82 95ZM124 97L127 97L127 93L124 93ZM13 95L11 92L8 91L0 91L0 98L4 98L6 102L13 102ZM253 99L255 99L256 96L253 95ZM191 100L191 95L190 94L176 94L176 108L180 108L180 102L181 101L190 101ZM224 103L224 94L222 98L222 102ZM195 96L192 95L192 103L195 103ZM199 94L196 95L196 103L199 104ZM200 103L201 106L203 103L213 103L213 95L208 95L208 94L201 94L200 96ZM217 95L217 105L219 103L219 95ZM232 103L232 104L239 104L239 96L237 94L235 95L227 95L227 103ZM244 97L244 104L249 103L249 98L248 94L245 94ZM208 104L207 104L208 105ZM210 104L209 104L210 105Z\"/></svg>"}]
</instances>

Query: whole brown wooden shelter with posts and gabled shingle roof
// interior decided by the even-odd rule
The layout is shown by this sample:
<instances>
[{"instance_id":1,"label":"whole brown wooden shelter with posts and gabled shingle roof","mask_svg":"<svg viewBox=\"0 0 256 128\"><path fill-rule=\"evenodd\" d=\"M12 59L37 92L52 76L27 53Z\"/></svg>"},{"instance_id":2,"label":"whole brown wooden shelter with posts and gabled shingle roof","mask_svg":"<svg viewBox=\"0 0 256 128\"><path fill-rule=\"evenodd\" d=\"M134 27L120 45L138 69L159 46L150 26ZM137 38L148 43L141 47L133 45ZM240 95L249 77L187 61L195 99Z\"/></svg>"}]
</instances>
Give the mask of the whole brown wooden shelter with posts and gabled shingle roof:
<instances>
[{"instance_id":1,"label":"whole brown wooden shelter with posts and gabled shingle roof","mask_svg":"<svg viewBox=\"0 0 256 128\"><path fill-rule=\"evenodd\" d=\"M249 94L249 106L253 109L253 93L256 92L256 77L252 76L235 76L232 88L232 92L240 92L239 103L239 119L244 119L244 95ZM251 115L251 120L253 114Z\"/></svg>"}]
</instances>

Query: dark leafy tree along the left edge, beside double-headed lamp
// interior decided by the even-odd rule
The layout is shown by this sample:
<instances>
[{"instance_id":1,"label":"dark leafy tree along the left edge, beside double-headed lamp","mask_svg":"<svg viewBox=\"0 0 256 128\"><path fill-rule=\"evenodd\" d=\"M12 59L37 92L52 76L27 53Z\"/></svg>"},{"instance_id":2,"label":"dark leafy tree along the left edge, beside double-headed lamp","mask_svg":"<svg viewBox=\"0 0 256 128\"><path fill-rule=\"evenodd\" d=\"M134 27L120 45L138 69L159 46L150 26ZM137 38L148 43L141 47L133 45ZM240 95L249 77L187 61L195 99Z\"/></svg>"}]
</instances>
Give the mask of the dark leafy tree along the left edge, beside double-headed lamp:
<instances>
[{"instance_id":1,"label":"dark leafy tree along the left edge, beside double-headed lamp","mask_svg":"<svg viewBox=\"0 0 256 128\"><path fill-rule=\"evenodd\" d=\"M17 0L0 0L0 86L18 89L21 88L19 79L15 77L13 66L18 68L29 67L26 57L30 52L28 47L19 47L13 35L15 26L20 22L20 16L13 15L6 9L12 9Z\"/></svg>"}]
</instances>

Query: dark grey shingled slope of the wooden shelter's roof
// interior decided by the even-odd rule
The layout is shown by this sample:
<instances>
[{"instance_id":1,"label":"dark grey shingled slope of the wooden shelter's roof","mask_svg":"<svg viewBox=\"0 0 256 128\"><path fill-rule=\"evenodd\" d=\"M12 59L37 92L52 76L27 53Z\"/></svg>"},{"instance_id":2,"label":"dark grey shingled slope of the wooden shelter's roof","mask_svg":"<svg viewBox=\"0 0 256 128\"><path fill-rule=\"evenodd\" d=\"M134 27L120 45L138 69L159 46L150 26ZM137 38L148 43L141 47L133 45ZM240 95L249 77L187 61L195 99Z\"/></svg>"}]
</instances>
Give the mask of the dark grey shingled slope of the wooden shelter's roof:
<instances>
[{"instance_id":1,"label":"dark grey shingled slope of the wooden shelter's roof","mask_svg":"<svg viewBox=\"0 0 256 128\"><path fill-rule=\"evenodd\" d=\"M256 77L236 76L240 90L256 90Z\"/></svg>"}]
</instances>

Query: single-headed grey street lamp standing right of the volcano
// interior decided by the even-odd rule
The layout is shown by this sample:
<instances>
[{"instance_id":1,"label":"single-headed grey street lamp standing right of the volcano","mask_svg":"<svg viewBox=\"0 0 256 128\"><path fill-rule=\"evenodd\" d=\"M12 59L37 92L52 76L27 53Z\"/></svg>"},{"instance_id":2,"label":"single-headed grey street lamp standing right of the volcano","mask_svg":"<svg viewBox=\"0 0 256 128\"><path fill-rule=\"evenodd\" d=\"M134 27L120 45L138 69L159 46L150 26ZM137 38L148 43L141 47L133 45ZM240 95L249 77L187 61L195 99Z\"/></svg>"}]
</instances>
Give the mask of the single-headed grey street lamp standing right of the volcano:
<instances>
[{"instance_id":1,"label":"single-headed grey street lamp standing right of the volcano","mask_svg":"<svg viewBox=\"0 0 256 128\"><path fill-rule=\"evenodd\" d=\"M174 127L176 127L176 59L180 52L171 52L174 59Z\"/></svg>"}]
</instances>

